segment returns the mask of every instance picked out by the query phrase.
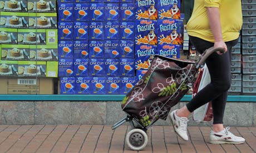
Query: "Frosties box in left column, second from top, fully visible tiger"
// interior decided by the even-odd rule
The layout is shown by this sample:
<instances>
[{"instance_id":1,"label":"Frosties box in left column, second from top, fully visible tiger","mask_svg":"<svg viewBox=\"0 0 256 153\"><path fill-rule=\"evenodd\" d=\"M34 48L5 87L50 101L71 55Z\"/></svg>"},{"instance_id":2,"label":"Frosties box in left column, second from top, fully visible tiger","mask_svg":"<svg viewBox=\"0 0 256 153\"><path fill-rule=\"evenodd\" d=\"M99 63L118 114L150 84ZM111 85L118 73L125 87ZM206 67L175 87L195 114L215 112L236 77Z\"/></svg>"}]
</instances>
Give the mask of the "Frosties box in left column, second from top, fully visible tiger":
<instances>
[{"instance_id":1,"label":"Frosties box in left column, second from top, fully visible tiger","mask_svg":"<svg viewBox=\"0 0 256 153\"><path fill-rule=\"evenodd\" d=\"M137 20L135 27L136 44L157 44L157 21Z\"/></svg>"}]
</instances>

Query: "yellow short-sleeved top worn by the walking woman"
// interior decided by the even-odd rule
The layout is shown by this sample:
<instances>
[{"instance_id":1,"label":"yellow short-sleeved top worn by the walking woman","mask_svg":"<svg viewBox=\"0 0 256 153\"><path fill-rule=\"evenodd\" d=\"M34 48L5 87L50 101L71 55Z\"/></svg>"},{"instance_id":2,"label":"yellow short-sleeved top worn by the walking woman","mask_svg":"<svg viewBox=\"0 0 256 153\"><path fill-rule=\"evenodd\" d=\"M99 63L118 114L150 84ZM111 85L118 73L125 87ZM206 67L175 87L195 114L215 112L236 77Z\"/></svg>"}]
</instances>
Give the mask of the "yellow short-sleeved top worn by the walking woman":
<instances>
[{"instance_id":1,"label":"yellow short-sleeved top worn by the walking woman","mask_svg":"<svg viewBox=\"0 0 256 153\"><path fill-rule=\"evenodd\" d=\"M214 42L205 7L219 8L224 42L239 37L243 24L241 0L195 0L194 10L187 25L189 35Z\"/></svg>"}]
</instances>

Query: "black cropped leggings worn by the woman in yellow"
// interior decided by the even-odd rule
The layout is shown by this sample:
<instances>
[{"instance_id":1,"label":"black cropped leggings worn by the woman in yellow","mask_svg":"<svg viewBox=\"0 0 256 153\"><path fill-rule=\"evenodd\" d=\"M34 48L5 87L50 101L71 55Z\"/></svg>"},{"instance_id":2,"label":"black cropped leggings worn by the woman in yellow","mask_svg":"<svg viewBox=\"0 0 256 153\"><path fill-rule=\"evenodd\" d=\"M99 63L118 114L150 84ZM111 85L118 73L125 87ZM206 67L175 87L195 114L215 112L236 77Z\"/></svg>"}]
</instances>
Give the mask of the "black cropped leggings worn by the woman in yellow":
<instances>
[{"instance_id":1,"label":"black cropped leggings worn by the woman in yellow","mask_svg":"<svg viewBox=\"0 0 256 153\"><path fill-rule=\"evenodd\" d=\"M191 43L196 50L203 54L205 49L214 46L214 43L206 40L189 36ZM206 59L206 65L209 69L211 82L186 105L190 112L211 101L213 106L213 124L223 124L223 115L228 96L228 89L231 84L231 50L237 44L238 39L227 44L228 52L222 55L213 53Z\"/></svg>"}]
</instances>

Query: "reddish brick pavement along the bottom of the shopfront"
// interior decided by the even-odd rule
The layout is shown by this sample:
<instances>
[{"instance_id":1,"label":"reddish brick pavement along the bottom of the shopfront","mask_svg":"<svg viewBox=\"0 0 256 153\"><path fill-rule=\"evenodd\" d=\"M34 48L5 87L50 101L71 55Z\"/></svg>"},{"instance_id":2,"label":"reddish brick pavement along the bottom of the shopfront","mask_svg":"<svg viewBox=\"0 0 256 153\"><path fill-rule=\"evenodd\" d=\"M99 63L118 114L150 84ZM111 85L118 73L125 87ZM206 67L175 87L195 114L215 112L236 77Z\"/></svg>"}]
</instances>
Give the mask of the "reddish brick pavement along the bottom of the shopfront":
<instances>
[{"instance_id":1,"label":"reddish brick pavement along the bottom of the shopfront","mask_svg":"<svg viewBox=\"0 0 256 153\"><path fill-rule=\"evenodd\" d=\"M240 145L209 144L210 127L189 126L189 141L176 136L172 126L152 126L143 151L131 151L125 144L129 126L111 130L111 125L0 125L2 152L256 152L256 127L231 127L247 140Z\"/></svg>"}]
</instances>

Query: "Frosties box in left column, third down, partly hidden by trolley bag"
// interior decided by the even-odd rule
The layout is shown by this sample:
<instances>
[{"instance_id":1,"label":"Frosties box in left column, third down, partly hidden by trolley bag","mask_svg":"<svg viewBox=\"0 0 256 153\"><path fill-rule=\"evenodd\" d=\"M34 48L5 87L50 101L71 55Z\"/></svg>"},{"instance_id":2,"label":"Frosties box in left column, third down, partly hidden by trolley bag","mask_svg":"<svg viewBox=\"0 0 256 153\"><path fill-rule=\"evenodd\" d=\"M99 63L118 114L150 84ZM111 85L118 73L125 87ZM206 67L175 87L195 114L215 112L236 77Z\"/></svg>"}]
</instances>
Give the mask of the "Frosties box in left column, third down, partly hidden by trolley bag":
<instances>
[{"instance_id":1,"label":"Frosties box in left column, third down, partly hidden by trolley bag","mask_svg":"<svg viewBox=\"0 0 256 153\"><path fill-rule=\"evenodd\" d=\"M148 70L155 54L157 54L156 45L136 45L135 46L136 70Z\"/></svg>"}]
</instances>

